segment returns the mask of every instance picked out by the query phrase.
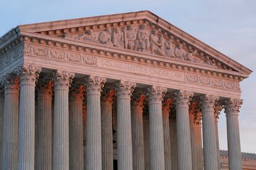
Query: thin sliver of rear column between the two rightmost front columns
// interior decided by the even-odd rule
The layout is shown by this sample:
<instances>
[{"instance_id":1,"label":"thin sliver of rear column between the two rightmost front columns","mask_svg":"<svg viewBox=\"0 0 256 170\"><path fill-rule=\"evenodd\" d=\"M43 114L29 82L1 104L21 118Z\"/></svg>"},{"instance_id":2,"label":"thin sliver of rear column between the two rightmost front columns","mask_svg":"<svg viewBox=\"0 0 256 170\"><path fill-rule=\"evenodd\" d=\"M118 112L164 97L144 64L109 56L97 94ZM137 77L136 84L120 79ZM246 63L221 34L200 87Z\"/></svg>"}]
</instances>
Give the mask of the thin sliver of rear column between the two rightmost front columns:
<instances>
[{"instance_id":1,"label":"thin sliver of rear column between the two rightmost front columns","mask_svg":"<svg viewBox=\"0 0 256 170\"><path fill-rule=\"evenodd\" d=\"M220 144L219 144L219 132L218 132L218 119L220 115L220 111L222 110L222 106L220 103L216 103L214 108L214 119L215 119L215 128L216 128L216 142L217 142L217 152L218 152L218 169L221 169L221 163L220 163Z\"/></svg>"}]
</instances>

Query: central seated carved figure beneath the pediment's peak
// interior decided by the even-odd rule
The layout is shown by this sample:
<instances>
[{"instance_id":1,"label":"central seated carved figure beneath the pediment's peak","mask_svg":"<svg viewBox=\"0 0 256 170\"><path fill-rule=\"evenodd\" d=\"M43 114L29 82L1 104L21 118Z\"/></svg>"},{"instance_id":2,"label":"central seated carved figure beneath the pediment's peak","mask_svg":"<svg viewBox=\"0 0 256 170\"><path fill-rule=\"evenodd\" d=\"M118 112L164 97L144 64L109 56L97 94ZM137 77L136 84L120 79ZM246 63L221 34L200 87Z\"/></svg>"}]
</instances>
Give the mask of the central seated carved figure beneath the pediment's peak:
<instances>
[{"instance_id":1,"label":"central seated carved figure beneath the pediment's peak","mask_svg":"<svg viewBox=\"0 0 256 170\"><path fill-rule=\"evenodd\" d=\"M139 51L150 51L149 33L145 23L141 26L140 30L138 30L137 38L139 41Z\"/></svg>"}]
</instances>

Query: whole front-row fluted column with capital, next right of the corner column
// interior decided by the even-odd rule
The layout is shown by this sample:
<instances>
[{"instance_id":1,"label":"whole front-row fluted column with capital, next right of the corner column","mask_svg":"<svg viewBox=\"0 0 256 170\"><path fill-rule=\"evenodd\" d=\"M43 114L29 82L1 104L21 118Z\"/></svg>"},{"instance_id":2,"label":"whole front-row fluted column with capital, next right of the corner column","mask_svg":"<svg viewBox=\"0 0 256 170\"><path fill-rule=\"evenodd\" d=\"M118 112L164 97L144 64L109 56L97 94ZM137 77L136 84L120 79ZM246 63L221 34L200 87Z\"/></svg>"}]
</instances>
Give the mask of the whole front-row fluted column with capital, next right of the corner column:
<instances>
[{"instance_id":1,"label":"whole front-row fluted column with capital, next right of the corner column","mask_svg":"<svg viewBox=\"0 0 256 170\"><path fill-rule=\"evenodd\" d=\"M69 86L73 76L60 70L53 74L53 170L69 169Z\"/></svg>"}]
</instances>

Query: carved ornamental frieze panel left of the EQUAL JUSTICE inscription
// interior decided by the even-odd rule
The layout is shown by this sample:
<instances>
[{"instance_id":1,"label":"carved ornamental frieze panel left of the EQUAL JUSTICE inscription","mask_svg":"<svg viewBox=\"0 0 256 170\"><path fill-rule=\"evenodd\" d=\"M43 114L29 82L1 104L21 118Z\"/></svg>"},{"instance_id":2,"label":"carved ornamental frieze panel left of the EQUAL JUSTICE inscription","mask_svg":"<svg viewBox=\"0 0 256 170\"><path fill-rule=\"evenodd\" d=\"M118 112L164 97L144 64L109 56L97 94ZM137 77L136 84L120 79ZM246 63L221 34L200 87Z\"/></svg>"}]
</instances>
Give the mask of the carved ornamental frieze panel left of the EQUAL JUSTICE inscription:
<instances>
[{"instance_id":1,"label":"carved ornamental frieze panel left of the EQUAL JUSTICE inscription","mask_svg":"<svg viewBox=\"0 0 256 170\"><path fill-rule=\"evenodd\" d=\"M32 44L25 44L24 54L38 55L49 59L64 60L67 62L82 63L85 65L96 65L97 58L92 55L64 51L61 49L53 49L45 46L36 46Z\"/></svg>"}]
</instances>

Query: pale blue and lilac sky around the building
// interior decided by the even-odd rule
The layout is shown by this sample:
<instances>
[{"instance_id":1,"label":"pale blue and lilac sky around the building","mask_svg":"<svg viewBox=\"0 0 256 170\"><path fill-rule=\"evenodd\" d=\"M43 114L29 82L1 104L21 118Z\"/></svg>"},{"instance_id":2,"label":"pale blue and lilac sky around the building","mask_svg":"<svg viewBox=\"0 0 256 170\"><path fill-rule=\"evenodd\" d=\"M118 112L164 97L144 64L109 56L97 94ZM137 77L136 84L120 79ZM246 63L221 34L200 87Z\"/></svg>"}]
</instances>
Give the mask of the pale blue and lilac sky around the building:
<instances>
[{"instance_id":1,"label":"pale blue and lilac sky around the building","mask_svg":"<svg viewBox=\"0 0 256 170\"><path fill-rule=\"evenodd\" d=\"M256 71L255 0L13 0L0 1L0 36L11 28L38 22L150 10L209 46ZM242 152L256 153L256 75L241 83L239 126ZM227 150L226 117L218 124L220 148Z\"/></svg>"}]
</instances>

